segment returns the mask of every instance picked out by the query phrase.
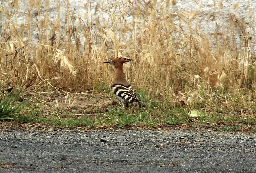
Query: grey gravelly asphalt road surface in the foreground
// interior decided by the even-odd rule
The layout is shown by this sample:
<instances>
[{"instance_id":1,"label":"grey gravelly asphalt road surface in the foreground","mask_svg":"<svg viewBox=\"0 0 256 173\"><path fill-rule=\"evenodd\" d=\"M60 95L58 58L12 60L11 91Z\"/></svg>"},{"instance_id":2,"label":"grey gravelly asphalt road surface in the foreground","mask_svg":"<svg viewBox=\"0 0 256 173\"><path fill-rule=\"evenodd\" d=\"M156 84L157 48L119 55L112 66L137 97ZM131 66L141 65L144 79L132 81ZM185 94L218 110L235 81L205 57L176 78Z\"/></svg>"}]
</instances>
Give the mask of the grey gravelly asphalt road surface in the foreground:
<instances>
[{"instance_id":1,"label":"grey gravelly asphalt road surface in the foreground","mask_svg":"<svg viewBox=\"0 0 256 173\"><path fill-rule=\"evenodd\" d=\"M0 132L0 172L256 172L256 134Z\"/></svg>"}]
</instances>

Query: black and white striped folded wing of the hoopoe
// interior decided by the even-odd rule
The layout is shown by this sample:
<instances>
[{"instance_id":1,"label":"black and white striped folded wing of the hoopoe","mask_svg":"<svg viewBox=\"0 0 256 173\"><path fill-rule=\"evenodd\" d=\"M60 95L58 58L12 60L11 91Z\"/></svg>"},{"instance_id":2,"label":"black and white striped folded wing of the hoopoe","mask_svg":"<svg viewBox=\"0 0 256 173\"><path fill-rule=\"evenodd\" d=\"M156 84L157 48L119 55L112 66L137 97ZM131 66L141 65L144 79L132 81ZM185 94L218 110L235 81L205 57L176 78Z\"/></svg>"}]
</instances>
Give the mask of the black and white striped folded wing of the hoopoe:
<instances>
[{"instance_id":1,"label":"black and white striped folded wing of the hoopoe","mask_svg":"<svg viewBox=\"0 0 256 173\"><path fill-rule=\"evenodd\" d=\"M121 101L124 100L126 103L139 102L131 86L116 84L112 86L112 90Z\"/></svg>"}]
</instances>

